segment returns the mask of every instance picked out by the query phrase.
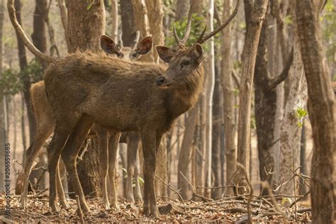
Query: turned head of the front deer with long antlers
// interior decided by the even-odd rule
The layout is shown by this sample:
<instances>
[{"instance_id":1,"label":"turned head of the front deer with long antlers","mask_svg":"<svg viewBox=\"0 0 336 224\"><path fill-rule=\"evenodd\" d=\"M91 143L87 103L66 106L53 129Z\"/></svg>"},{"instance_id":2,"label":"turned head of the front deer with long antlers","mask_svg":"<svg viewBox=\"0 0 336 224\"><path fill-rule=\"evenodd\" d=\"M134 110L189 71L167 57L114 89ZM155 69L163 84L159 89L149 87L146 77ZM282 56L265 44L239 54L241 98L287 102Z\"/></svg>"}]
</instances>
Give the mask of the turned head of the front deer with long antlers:
<instances>
[{"instance_id":1,"label":"turned head of the front deer with long antlers","mask_svg":"<svg viewBox=\"0 0 336 224\"><path fill-rule=\"evenodd\" d=\"M158 86L175 86L180 84L186 79L193 80L195 73L200 66L203 66L202 62L204 60L204 51L202 47L202 43L211 38L216 33L220 32L225 26L228 26L230 21L233 20L235 15L237 14L240 0L237 0L237 5L235 6L235 11L228 18L228 21L221 24L217 29L213 30L213 32L204 36L206 32L206 27L201 33L200 37L196 41L194 45L186 46L186 40L188 40L190 29L191 29L191 15L192 8L194 5L194 1L191 3L188 21L186 26L186 32L184 33L184 37L180 40L177 35L175 26L174 26L174 38L177 41L177 48L172 49L170 47L157 46L156 50L159 54L159 57L164 61L169 63L169 67L166 72L160 77L157 78Z\"/></svg>"}]
</instances>

